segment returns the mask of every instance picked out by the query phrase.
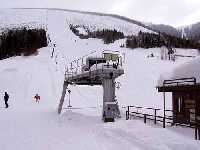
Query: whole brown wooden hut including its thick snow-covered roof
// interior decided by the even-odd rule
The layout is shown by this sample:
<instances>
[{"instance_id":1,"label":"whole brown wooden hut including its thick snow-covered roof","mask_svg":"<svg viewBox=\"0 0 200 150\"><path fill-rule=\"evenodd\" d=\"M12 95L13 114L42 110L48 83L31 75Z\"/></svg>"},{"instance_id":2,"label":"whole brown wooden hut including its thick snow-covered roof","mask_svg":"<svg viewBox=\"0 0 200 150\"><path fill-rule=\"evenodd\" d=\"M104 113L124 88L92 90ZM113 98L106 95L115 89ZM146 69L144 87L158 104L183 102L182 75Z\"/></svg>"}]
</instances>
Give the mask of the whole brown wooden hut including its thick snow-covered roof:
<instances>
[{"instance_id":1,"label":"whole brown wooden hut including its thick snow-covered roof","mask_svg":"<svg viewBox=\"0 0 200 150\"><path fill-rule=\"evenodd\" d=\"M200 57L177 67L171 76L163 77L157 86L163 92L164 116L165 93L172 93L172 118L174 124L200 128ZM199 130L200 131L200 130ZM200 135L200 134L198 134Z\"/></svg>"}]
</instances>

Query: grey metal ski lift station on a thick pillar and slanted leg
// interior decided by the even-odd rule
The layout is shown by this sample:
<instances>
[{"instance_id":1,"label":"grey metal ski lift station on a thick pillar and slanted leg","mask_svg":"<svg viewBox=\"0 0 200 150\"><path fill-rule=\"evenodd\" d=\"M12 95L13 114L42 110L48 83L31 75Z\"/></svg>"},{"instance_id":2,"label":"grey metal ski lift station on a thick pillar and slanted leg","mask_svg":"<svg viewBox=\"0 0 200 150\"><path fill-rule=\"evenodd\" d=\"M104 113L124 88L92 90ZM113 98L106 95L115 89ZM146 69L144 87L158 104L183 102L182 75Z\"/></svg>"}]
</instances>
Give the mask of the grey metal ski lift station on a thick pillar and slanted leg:
<instances>
[{"instance_id":1,"label":"grey metal ski lift station on a thick pillar and slanted leg","mask_svg":"<svg viewBox=\"0 0 200 150\"><path fill-rule=\"evenodd\" d=\"M91 54L92 55L92 54ZM102 85L104 122L113 122L120 116L119 106L115 96L115 79L124 74L122 68L123 56L118 51L103 51L100 56L87 55L73 61L66 69L62 96L58 113L62 111L66 90L69 84Z\"/></svg>"}]
</instances>

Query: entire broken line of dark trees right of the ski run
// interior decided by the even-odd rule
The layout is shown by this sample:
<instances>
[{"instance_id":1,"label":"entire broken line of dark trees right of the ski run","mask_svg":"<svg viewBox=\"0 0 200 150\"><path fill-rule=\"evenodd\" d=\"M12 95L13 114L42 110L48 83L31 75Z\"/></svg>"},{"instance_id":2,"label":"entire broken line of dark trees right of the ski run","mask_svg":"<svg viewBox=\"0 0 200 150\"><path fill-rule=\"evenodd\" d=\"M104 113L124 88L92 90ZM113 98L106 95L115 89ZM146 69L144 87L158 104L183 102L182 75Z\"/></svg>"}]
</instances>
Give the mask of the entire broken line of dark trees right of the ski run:
<instances>
[{"instance_id":1,"label":"entire broken line of dark trees right of the ski run","mask_svg":"<svg viewBox=\"0 0 200 150\"><path fill-rule=\"evenodd\" d=\"M70 24L71 31L81 39L98 38L105 44L113 43L116 40L126 38L126 44L121 47L127 48L154 48L154 47L176 47L176 48L194 48L200 49L200 43L191 39L175 37L165 33L148 33L140 31L138 35L125 36L124 33L117 30L103 29L91 32L88 27ZM80 33L80 29L85 30L86 34Z\"/></svg>"}]
</instances>

